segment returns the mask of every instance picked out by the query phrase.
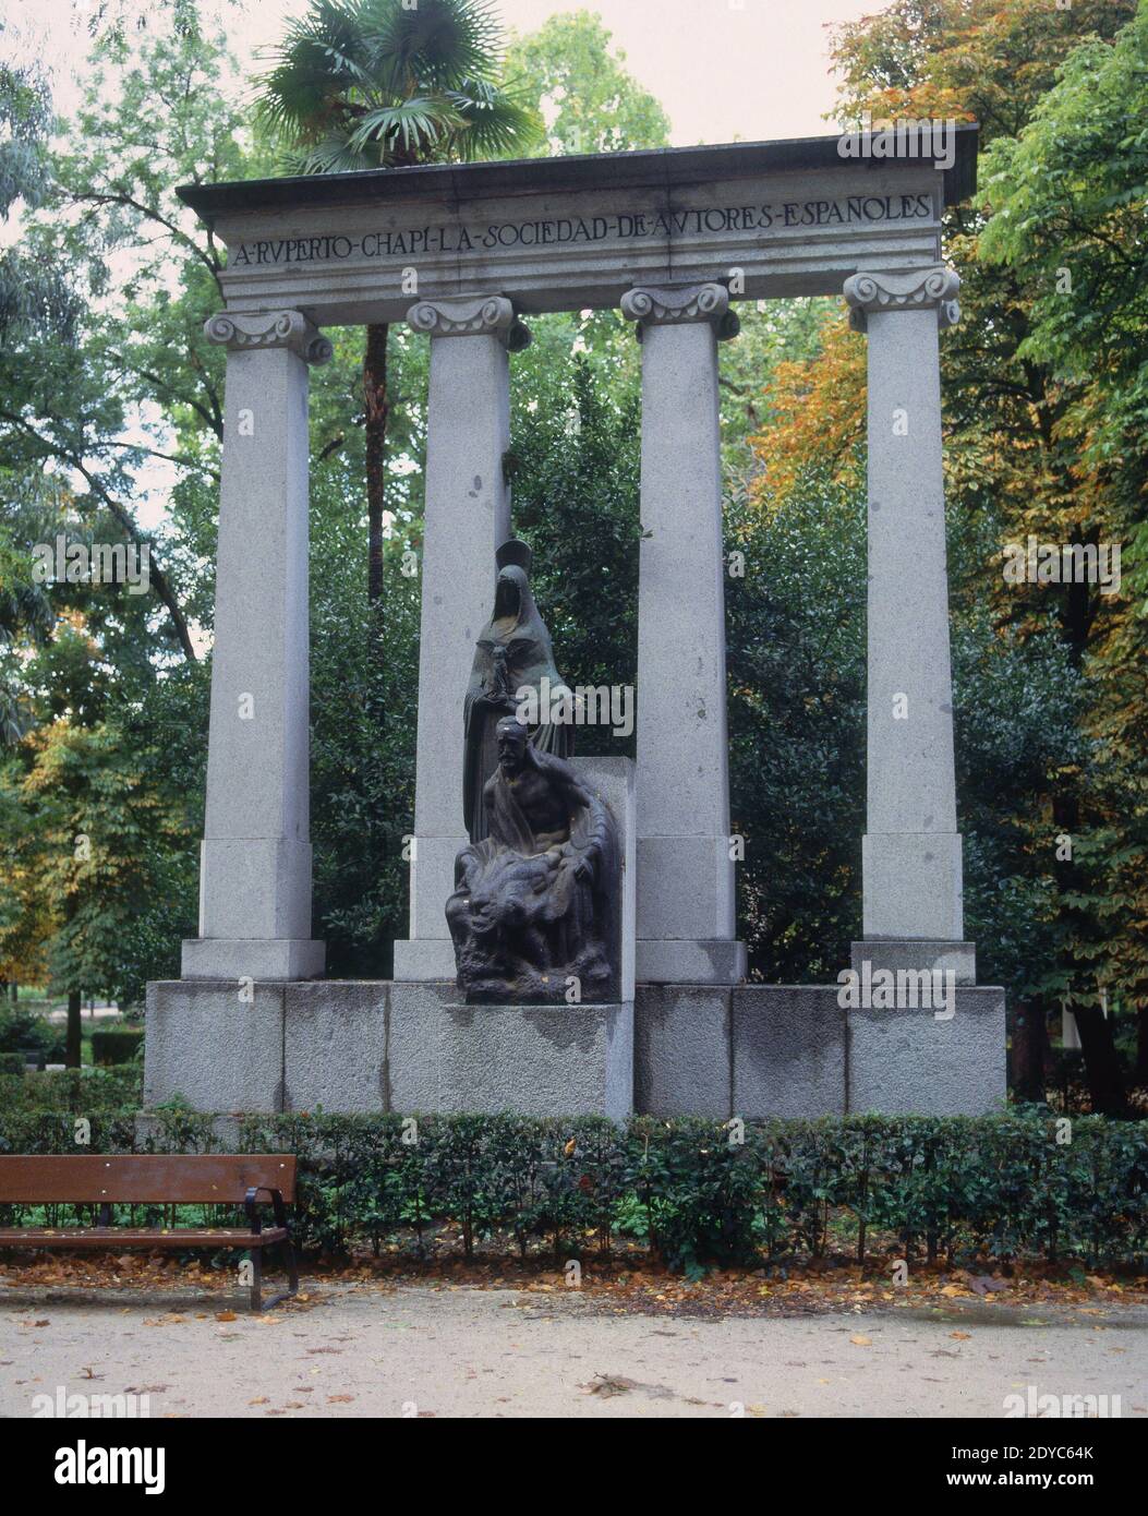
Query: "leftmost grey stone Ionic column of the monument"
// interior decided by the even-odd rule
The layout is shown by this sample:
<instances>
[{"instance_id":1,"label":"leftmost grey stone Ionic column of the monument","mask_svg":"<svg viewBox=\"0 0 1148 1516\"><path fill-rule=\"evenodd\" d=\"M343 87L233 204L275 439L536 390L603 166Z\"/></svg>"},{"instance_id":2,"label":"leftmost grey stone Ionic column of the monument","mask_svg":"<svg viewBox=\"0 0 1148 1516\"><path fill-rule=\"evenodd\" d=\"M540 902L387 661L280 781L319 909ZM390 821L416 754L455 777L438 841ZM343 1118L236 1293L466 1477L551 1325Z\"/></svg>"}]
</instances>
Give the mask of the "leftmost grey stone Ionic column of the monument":
<instances>
[{"instance_id":1,"label":"leftmost grey stone Ionic column of the monument","mask_svg":"<svg viewBox=\"0 0 1148 1516\"><path fill-rule=\"evenodd\" d=\"M298 312L220 315L227 343L200 937L185 978L309 978L307 362Z\"/></svg>"}]
</instances>

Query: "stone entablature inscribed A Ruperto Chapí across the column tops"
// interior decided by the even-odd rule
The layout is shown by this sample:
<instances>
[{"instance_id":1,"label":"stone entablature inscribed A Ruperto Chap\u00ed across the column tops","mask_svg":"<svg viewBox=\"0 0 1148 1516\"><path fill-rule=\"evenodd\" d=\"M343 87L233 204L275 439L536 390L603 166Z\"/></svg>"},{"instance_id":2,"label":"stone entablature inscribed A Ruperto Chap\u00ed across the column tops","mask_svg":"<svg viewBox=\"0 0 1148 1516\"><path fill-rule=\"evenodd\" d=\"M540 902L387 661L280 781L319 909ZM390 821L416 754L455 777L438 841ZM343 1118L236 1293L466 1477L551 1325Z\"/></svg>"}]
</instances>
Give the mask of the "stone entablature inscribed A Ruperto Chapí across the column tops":
<instances>
[{"instance_id":1,"label":"stone entablature inscribed A Ruperto Chap\u00ed across the column tops","mask_svg":"<svg viewBox=\"0 0 1148 1516\"><path fill-rule=\"evenodd\" d=\"M318 324L401 321L415 297L473 290L526 314L604 308L635 283L732 270L747 299L838 294L857 268L939 262L941 215L972 188L975 138L957 132L948 171L850 162L830 136L180 194L227 244L229 309L294 306Z\"/></svg>"}]
</instances>

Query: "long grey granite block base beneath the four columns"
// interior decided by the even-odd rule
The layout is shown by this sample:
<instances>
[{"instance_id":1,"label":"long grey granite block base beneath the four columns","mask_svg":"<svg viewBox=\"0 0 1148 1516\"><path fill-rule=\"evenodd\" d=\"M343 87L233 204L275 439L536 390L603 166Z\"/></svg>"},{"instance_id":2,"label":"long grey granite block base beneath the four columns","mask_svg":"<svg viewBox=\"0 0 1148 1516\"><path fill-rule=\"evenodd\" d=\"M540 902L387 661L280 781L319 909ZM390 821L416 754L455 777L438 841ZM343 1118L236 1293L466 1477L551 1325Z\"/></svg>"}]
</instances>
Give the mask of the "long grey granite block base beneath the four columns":
<instances>
[{"instance_id":1,"label":"long grey granite block base beneath the four columns","mask_svg":"<svg viewBox=\"0 0 1148 1516\"><path fill-rule=\"evenodd\" d=\"M148 985L144 1098L195 1110L727 1120L980 1114L1006 1098L1004 991L844 1010L839 985L639 984L613 1005L463 1005L450 981Z\"/></svg>"}]
</instances>

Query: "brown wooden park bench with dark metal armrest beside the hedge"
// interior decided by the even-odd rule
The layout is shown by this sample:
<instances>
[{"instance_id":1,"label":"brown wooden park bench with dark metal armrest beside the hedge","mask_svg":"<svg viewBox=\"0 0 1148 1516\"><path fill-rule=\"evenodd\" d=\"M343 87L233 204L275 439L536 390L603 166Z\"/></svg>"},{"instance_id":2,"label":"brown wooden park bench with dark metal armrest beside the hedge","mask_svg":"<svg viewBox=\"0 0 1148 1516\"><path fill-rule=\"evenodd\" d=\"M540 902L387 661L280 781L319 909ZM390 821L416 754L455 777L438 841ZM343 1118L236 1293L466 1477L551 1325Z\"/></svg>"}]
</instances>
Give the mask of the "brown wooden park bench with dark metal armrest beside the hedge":
<instances>
[{"instance_id":1,"label":"brown wooden park bench with dark metal armrest beside the hedge","mask_svg":"<svg viewBox=\"0 0 1148 1516\"><path fill-rule=\"evenodd\" d=\"M262 1308L264 1248L282 1243L289 1295L298 1290L286 1202L295 1157L271 1154L83 1154L0 1157L0 1205L98 1205L97 1226L0 1226L0 1248L242 1248L251 1254L251 1310ZM259 1205L271 1204L274 1226ZM247 1226L114 1226L114 1205L242 1205ZM277 1295L270 1305L286 1296Z\"/></svg>"}]
</instances>

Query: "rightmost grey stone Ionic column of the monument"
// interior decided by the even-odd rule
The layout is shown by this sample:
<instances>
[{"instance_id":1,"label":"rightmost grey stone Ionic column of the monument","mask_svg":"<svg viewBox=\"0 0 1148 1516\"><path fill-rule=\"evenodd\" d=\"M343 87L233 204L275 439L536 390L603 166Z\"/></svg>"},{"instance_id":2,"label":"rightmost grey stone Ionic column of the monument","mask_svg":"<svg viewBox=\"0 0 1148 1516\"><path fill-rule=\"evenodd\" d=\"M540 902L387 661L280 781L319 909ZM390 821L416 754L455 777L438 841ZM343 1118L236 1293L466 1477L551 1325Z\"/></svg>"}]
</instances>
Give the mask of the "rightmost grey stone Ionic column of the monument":
<instances>
[{"instance_id":1,"label":"rightmost grey stone Ionic column of the monument","mask_svg":"<svg viewBox=\"0 0 1148 1516\"><path fill-rule=\"evenodd\" d=\"M937 349L957 288L944 268L845 285L869 340L866 941L963 935Z\"/></svg>"}]
</instances>

